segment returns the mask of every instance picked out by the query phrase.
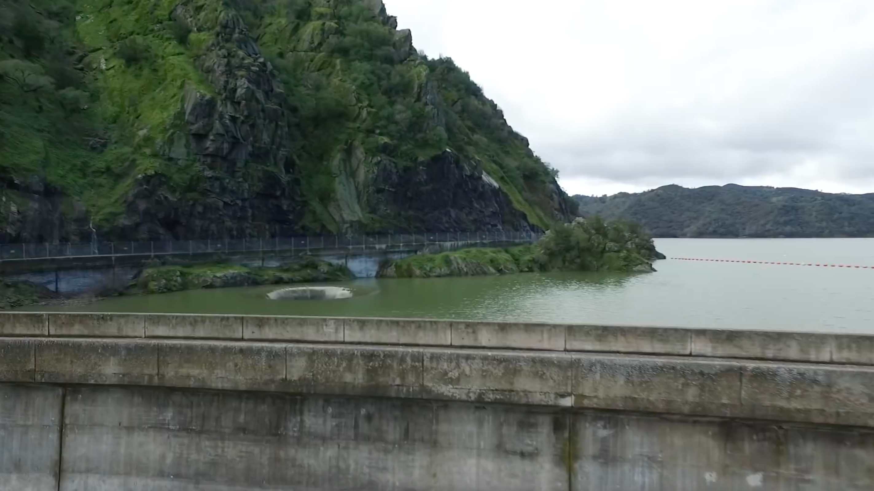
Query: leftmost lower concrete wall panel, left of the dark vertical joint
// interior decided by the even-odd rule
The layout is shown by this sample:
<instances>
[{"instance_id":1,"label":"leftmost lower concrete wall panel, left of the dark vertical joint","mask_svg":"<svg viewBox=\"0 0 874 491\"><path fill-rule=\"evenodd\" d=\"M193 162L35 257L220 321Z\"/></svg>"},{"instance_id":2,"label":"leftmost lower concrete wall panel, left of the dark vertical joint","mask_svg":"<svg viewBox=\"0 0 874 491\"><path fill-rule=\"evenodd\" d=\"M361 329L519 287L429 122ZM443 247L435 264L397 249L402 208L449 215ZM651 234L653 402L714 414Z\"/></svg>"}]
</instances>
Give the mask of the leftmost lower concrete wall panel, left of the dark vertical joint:
<instances>
[{"instance_id":1,"label":"leftmost lower concrete wall panel, left of the dark vertical joint","mask_svg":"<svg viewBox=\"0 0 874 491\"><path fill-rule=\"evenodd\" d=\"M0 384L0 491L58 491L62 390Z\"/></svg>"}]
</instances>

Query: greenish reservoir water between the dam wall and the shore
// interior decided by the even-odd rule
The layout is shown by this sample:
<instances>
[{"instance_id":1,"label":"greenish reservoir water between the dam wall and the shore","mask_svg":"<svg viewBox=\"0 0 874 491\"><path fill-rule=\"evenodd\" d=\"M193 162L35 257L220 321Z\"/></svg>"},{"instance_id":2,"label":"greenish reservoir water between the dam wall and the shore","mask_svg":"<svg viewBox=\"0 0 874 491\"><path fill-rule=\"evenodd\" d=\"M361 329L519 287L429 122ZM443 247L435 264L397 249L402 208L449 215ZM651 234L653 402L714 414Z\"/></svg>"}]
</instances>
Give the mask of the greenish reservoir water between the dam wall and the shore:
<instances>
[{"instance_id":1,"label":"greenish reservoir water between the dam wall and the shore","mask_svg":"<svg viewBox=\"0 0 874 491\"><path fill-rule=\"evenodd\" d=\"M828 263L782 266L666 259L657 273L526 273L353 280L334 301L274 301L279 287L116 297L54 310L419 317L874 333L874 239L656 239L669 258ZM33 308L45 310L45 307Z\"/></svg>"}]
</instances>

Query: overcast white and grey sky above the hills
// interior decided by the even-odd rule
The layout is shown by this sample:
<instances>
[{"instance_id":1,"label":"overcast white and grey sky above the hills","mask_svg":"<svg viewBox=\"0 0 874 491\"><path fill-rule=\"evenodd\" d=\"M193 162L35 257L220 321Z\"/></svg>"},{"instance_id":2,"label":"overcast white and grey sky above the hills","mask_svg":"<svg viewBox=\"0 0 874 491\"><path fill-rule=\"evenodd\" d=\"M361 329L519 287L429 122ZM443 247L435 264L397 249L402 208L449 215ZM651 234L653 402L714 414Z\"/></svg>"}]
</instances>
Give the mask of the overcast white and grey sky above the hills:
<instances>
[{"instance_id":1,"label":"overcast white and grey sky above the hills","mask_svg":"<svg viewBox=\"0 0 874 491\"><path fill-rule=\"evenodd\" d=\"M571 194L874 192L874 0L384 0Z\"/></svg>"}]
</instances>

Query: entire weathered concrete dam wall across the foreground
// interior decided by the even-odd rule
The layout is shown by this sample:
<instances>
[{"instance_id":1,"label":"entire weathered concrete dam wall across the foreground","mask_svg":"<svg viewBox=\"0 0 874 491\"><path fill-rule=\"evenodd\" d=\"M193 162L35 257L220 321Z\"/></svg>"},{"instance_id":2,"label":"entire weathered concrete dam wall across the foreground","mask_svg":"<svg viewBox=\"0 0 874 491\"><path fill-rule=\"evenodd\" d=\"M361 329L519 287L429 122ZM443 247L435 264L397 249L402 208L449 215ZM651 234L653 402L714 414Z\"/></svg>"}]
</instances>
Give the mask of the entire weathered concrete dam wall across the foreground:
<instances>
[{"instance_id":1,"label":"entire weathered concrete dam wall across the foreground","mask_svg":"<svg viewBox=\"0 0 874 491\"><path fill-rule=\"evenodd\" d=\"M0 314L0 491L870 490L872 342Z\"/></svg>"}]
</instances>

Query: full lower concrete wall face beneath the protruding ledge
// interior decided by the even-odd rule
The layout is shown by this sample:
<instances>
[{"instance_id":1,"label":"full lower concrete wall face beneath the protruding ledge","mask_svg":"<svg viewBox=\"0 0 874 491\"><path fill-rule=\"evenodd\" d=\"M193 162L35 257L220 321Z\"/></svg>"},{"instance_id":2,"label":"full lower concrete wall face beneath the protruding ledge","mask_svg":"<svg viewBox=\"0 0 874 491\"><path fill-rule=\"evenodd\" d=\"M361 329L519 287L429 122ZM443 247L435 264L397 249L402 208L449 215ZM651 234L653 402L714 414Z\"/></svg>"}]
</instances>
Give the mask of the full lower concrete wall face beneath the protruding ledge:
<instances>
[{"instance_id":1,"label":"full lower concrete wall face beneath the protruding ledge","mask_svg":"<svg viewBox=\"0 0 874 491\"><path fill-rule=\"evenodd\" d=\"M874 488L857 428L398 398L0 384L0 438L2 491Z\"/></svg>"}]
</instances>

